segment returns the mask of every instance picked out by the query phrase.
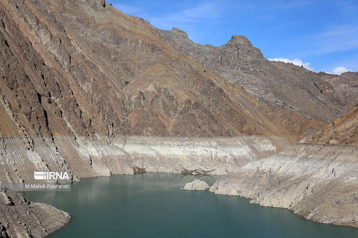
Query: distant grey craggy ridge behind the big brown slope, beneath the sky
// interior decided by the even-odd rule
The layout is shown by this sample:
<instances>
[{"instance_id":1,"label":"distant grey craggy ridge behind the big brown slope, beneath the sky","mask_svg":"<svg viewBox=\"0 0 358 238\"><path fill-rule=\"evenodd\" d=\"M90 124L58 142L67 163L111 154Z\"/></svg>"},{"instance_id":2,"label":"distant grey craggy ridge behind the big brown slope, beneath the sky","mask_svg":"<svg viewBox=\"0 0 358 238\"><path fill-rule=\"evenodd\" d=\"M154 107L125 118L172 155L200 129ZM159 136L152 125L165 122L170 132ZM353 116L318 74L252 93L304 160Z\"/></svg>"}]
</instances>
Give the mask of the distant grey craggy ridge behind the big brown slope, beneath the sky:
<instances>
[{"instance_id":1,"label":"distant grey craggy ridge behind the big brown slope, beneath the sky","mask_svg":"<svg viewBox=\"0 0 358 238\"><path fill-rule=\"evenodd\" d=\"M324 122L358 105L356 78L326 74L334 79L325 80L303 67L269 61L244 36L232 36L226 44L216 47L193 43L176 28L157 32L178 51L243 87L261 102L285 106Z\"/></svg>"}]
</instances>

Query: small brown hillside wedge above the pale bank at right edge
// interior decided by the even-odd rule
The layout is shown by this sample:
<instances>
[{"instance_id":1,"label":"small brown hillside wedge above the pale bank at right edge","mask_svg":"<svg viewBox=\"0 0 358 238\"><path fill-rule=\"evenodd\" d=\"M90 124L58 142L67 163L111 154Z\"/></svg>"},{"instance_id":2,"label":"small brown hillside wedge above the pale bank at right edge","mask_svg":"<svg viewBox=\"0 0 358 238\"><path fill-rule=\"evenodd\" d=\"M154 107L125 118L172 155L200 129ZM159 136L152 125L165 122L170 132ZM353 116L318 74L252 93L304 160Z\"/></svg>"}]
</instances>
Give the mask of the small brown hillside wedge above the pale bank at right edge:
<instances>
[{"instance_id":1,"label":"small brown hillside wedge above the pale bank at right edge","mask_svg":"<svg viewBox=\"0 0 358 238\"><path fill-rule=\"evenodd\" d=\"M349 110L322 131L307 138L306 142L358 146L358 107Z\"/></svg>"}]
</instances>

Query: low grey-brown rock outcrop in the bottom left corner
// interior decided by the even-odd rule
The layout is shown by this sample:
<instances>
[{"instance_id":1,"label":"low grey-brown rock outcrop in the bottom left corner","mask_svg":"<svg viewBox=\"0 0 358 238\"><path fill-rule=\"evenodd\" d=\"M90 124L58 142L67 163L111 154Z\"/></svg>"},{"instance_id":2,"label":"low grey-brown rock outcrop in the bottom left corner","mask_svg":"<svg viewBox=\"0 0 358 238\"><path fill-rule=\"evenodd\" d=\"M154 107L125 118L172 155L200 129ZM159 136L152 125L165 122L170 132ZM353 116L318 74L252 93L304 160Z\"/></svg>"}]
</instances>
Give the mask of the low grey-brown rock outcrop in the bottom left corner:
<instances>
[{"instance_id":1,"label":"low grey-brown rock outcrop in the bottom left corner","mask_svg":"<svg viewBox=\"0 0 358 238\"><path fill-rule=\"evenodd\" d=\"M71 220L51 205L28 202L12 191L0 192L0 237L43 237Z\"/></svg>"}]
</instances>

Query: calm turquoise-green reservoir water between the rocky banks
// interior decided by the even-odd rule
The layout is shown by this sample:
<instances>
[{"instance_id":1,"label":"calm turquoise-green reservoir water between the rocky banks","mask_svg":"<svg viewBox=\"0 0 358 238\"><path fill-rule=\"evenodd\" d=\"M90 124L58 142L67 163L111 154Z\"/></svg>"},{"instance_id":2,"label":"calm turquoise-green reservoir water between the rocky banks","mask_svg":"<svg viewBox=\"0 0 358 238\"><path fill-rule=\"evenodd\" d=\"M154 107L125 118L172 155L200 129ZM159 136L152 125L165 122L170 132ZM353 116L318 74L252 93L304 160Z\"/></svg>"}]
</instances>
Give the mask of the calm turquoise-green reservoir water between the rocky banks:
<instances>
[{"instance_id":1,"label":"calm turquoise-green reservoir water between the rocky banks","mask_svg":"<svg viewBox=\"0 0 358 238\"><path fill-rule=\"evenodd\" d=\"M71 192L24 192L72 216L54 237L358 237L358 229L310 222L282 208L248 199L184 191L210 176L135 174L88 178Z\"/></svg>"}]
</instances>

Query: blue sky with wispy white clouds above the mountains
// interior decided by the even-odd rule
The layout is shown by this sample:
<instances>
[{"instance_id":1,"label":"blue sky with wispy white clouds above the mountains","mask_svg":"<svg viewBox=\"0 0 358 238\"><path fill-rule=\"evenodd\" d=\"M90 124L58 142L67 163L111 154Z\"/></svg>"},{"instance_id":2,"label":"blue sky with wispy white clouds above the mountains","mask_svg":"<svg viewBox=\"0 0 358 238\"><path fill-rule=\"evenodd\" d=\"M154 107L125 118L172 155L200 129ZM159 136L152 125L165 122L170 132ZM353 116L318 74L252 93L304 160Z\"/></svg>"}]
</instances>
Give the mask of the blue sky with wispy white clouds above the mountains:
<instances>
[{"instance_id":1,"label":"blue sky with wispy white clouds above the mountains","mask_svg":"<svg viewBox=\"0 0 358 238\"><path fill-rule=\"evenodd\" d=\"M156 28L184 30L195 43L220 46L244 35L265 58L315 72L358 71L358 0L107 2Z\"/></svg>"}]
</instances>

